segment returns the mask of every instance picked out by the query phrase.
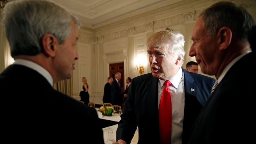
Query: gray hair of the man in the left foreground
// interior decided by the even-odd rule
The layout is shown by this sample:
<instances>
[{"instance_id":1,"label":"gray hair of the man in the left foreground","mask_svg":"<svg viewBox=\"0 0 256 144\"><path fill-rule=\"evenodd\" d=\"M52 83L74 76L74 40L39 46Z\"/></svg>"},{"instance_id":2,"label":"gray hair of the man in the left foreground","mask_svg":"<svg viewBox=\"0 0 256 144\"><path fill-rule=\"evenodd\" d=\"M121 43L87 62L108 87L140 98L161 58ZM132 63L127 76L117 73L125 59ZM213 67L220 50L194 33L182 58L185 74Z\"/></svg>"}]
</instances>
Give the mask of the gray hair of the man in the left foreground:
<instances>
[{"instance_id":1,"label":"gray hair of the man in the left foreground","mask_svg":"<svg viewBox=\"0 0 256 144\"><path fill-rule=\"evenodd\" d=\"M46 0L8 2L2 14L12 57L43 52L41 39L45 34L54 35L62 44L72 32L72 21L80 28L74 15Z\"/></svg>"}]
</instances>

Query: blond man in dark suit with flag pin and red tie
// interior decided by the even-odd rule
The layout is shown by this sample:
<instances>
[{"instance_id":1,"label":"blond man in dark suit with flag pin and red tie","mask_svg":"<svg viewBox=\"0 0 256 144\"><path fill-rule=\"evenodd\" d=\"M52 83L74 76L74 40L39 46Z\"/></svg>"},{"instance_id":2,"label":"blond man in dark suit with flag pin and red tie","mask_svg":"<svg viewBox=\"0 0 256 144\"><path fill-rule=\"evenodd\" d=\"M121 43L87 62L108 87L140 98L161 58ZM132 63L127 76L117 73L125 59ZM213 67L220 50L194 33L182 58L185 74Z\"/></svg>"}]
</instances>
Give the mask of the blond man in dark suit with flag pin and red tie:
<instances>
[{"instance_id":1,"label":"blond man in dark suit with flag pin and red tie","mask_svg":"<svg viewBox=\"0 0 256 144\"><path fill-rule=\"evenodd\" d=\"M171 96L172 133L167 136L169 143L188 143L191 128L199 112L210 96L215 79L188 72L183 64L184 36L180 32L164 30L153 34L147 41L149 62L152 73L132 79L116 131L118 142L130 143L137 125L139 126L138 144L161 143L159 126L159 106L162 99L164 82ZM114 142L113 144L115 144Z\"/></svg>"}]
</instances>

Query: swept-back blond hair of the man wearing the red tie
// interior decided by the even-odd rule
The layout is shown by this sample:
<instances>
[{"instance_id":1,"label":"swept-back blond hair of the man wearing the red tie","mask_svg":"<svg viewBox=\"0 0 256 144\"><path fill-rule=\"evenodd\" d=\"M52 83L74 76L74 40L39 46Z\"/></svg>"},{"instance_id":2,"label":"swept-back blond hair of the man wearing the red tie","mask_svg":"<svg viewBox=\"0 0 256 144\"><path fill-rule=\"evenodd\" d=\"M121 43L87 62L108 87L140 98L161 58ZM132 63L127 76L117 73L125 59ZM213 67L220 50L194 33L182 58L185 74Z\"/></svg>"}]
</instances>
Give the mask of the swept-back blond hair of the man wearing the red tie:
<instances>
[{"instance_id":1,"label":"swept-back blond hair of the man wearing the red tie","mask_svg":"<svg viewBox=\"0 0 256 144\"><path fill-rule=\"evenodd\" d=\"M173 53L177 58L183 55L180 65L184 62L184 36L179 31L163 30L153 34L147 41L147 46L159 47L169 45L169 52Z\"/></svg>"}]
</instances>

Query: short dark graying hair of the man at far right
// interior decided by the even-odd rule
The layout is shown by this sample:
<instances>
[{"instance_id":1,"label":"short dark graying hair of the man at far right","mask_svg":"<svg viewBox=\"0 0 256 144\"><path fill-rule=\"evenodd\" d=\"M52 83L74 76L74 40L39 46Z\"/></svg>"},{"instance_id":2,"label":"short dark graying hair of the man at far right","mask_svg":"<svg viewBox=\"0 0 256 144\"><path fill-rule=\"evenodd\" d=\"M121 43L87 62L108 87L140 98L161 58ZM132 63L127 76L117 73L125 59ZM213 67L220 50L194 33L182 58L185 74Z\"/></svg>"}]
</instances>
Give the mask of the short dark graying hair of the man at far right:
<instances>
[{"instance_id":1,"label":"short dark graying hair of the man at far right","mask_svg":"<svg viewBox=\"0 0 256 144\"><path fill-rule=\"evenodd\" d=\"M221 27L228 27L236 37L247 39L247 33L254 25L249 12L242 6L231 2L219 2L204 10L202 16L207 34L215 36Z\"/></svg>"}]
</instances>

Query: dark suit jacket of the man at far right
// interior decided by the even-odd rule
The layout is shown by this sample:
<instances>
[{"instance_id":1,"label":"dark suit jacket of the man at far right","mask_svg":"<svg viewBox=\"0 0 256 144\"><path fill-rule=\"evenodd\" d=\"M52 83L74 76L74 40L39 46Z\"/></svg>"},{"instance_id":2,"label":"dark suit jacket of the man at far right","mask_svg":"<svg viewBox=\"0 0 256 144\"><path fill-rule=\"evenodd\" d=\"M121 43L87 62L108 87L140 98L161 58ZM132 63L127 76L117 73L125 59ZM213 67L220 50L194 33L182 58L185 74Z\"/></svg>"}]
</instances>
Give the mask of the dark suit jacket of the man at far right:
<instances>
[{"instance_id":1,"label":"dark suit jacket of the man at far right","mask_svg":"<svg viewBox=\"0 0 256 144\"><path fill-rule=\"evenodd\" d=\"M220 81L198 116L190 144L255 143L255 72L252 53Z\"/></svg>"}]
</instances>

